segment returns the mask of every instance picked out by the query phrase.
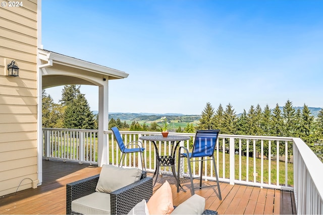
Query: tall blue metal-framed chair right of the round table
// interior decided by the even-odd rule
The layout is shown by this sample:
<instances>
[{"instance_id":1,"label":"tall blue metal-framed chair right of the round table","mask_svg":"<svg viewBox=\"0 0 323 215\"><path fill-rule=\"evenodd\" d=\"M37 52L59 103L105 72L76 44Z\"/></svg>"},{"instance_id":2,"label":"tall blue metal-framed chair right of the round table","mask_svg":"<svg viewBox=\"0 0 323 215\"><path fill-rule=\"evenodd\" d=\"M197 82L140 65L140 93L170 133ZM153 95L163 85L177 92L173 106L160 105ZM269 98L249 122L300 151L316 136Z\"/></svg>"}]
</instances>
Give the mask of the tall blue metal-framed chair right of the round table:
<instances>
[{"instance_id":1,"label":"tall blue metal-framed chair right of the round table","mask_svg":"<svg viewBox=\"0 0 323 215\"><path fill-rule=\"evenodd\" d=\"M188 152L188 149L185 147L179 148L178 153L178 171L177 171L177 192L179 192L179 189L181 187L180 185L180 160L181 158L187 158L187 166L188 171L190 174L190 180L191 180L191 195L194 195L194 189L196 188L202 188L202 169L203 169L203 161L213 161L213 167L214 171L216 173L217 177L217 185L218 185L218 192L219 192L219 199L222 200L221 196L221 190L220 190L220 184L219 184L219 177L217 172L217 166L214 159L214 150L216 148L218 136L219 136L220 130L198 130L195 134L195 140L193 145L192 153ZM181 153L181 149L185 151L185 153ZM205 157L209 157L209 159L204 159ZM195 160L193 160L195 158ZM196 159L199 158L199 159ZM192 170L191 170L191 162L201 161L201 168L200 168L200 186L194 188L193 185L193 177L192 177ZM211 185L216 186L216 185ZM209 186L203 186L203 187L209 187ZM183 189L183 188L182 188ZM183 189L184 190L184 189Z\"/></svg>"}]
</instances>

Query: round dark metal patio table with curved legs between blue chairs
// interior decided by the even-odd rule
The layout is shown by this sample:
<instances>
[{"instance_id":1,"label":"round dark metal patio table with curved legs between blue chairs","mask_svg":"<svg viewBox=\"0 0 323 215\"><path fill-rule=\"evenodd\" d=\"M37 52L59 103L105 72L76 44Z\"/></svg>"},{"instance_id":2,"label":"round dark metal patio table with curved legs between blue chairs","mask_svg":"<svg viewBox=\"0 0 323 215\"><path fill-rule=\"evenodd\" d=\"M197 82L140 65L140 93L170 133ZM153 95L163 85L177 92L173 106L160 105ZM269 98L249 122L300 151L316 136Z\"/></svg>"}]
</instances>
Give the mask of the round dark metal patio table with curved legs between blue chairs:
<instances>
[{"instance_id":1,"label":"round dark metal patio table with curved legs between blue chairs","mask_svg":"<svg viewBox=\"0 0 323 215\"><path fill-rule=\"evenodd\" d=\"M173 172L175 179L177 179L176 178L176 171L175 171L176 149L181 141L188 140L188 139L190 139L190 137L189 136L181 136L181 135L168 135L167 137L163 137L163 135L147 135L147 136L140 136L139 139L151 141L155 147L157 162L156 162L155 172L152 176L153 178L156 177L153 186L155 186L155 184L157 182L160 166L170 166L172 168L172 172ZM159 156L156 141L164 142L164 144L165 144L165 142L170 141L172 144L171 155Z\"/></svg>"}]
</instances>

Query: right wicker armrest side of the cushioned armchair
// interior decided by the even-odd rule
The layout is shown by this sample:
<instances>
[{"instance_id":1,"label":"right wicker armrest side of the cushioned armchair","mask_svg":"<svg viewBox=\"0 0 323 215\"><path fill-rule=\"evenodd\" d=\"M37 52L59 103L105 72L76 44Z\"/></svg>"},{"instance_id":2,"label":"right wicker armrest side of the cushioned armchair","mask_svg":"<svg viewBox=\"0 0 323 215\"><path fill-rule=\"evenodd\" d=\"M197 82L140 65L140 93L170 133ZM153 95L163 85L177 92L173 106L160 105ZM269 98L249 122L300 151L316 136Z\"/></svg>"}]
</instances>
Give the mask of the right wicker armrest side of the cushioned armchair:
<instances>
[{"instance_id":1,"label":"right wicker armrest side of the cushioned armchair","mask_svg":"<svg viewBox=\"0 0 323 215\"><path fill-rule=\"evenodd\" d=\"M152 178L146 177L110 193L111 214L127 214L143 199L152 195Z\"/></svg>"}]
</instances>

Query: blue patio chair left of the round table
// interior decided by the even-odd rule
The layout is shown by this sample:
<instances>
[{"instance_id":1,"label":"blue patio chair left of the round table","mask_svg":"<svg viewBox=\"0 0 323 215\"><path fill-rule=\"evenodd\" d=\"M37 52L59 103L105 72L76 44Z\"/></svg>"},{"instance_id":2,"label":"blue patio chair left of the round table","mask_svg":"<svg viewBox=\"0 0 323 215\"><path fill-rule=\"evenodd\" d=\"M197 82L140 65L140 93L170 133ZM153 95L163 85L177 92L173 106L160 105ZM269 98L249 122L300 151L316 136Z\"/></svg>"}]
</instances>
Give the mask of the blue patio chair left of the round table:
<instances>
[{"instance_id":1,"label":"blue patio chair left of the round table","mask_svg":"<svg viewBox=\"0 0 323 215\"><path fill-rule=\"evenodd\" d=\"M125 156L127 153L140 153L140 158L141 158L141 161L142 161L142 170L143 171L146 171L146 166L145 166L145 157L142 155L143 152L145 151L144 148L142 148L142 142L141 141L131 141L129 142L127 145L124 144L123 140L122 140L122 137L121 137L121 134L119 132L119 129L117 127L112 127L111 130L113 131L114 135L115 135L115 138L118 142L118 146L119 146L119 149L120 151L122 152L122 156L120 158L120 162L119 162L119 167L120 167L120 164L121 164L121 167L123 165L123 162L124 162L124 159L125 159ZM134 144L133 142L138 142L140 143L139 144ZM129 146L137 146L136 148L128 148Z\"/></svg>"}]
</instances>

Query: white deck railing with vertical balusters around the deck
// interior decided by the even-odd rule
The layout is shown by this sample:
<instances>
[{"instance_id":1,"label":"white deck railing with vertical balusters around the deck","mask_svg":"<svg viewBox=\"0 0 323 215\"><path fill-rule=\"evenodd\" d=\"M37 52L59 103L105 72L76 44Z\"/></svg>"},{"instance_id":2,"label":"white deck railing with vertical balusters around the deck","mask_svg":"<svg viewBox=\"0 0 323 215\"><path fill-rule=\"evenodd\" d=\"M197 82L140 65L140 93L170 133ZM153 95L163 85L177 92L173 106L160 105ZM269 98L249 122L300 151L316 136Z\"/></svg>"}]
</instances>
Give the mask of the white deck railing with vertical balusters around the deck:
<instances>
[{"instance_id":1,"label":"white deck railing with vertical balusters around the deck","mask_svg":"<svg viewBox=\"0 0 323 215\"><path fill-rule=\"evenodd\" d=\"M43 156L73 160L79 163L97 164L97 130L43 128ZM108 161L118 165L121 152L112 131L107 135ZM160 132L120 131L125 144L138 140L142 135L160 134ZM170 133L187 135L194 133ZM150 141L144 141L145 166L154 171L155 152ZM170 142L158 142L160 155L168 155ZM190 140L181 142L181 146L190 147ZM225 153L223 153L225 152ZM249 155L249 156L246 156ZM219 180L230 184L245 184L258 187L278 188L294 191L297 213L323 213L323 164L300 138L275 136L246 136L220 134L217 149L214 152ZM289 163L289 159L290 162ZM193 174L198 176L199 166L193 162ZM138 156L126 156L125 166L138 167ZM183 164L184 176L187 176L186 161ZM196 165L196 166L195 166ZM160 167L160 172L168 172L168 167ZM212 164L204 163L205 180L215 180Z\"/></svg>"}]
</instances>

